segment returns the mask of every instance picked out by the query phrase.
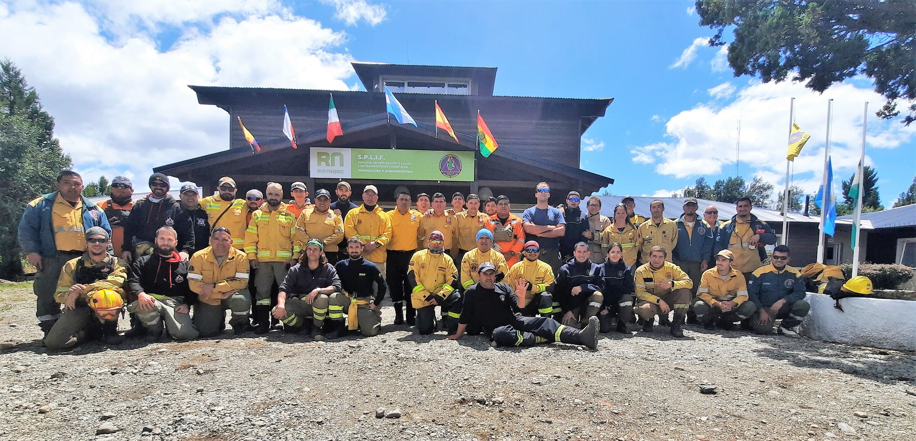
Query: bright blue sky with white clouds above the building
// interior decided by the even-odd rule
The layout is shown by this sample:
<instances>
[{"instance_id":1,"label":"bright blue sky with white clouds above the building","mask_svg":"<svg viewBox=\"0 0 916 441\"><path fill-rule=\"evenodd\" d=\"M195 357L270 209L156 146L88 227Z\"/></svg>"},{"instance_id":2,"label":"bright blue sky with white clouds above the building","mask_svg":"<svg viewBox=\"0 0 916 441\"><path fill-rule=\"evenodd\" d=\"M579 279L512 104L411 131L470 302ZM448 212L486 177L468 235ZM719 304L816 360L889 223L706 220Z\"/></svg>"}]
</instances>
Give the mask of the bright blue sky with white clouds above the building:
<instances>
[{"instance_id":1,"label":"bright blue sky with white clouds above the building","mask_svg":"<svg viewBox=\"0 0 916 441\"><path fill-rule=\"evenodd\" d=\"M123 175L138 190L152 167L228 144L228 115L198 104L188 84L362 90L354 60L497 67L497 95L614 98L583 135L581 164L613 177L611 194L671 196L698 177L736 175L779 190L791 97L796 124L812 135L794 185L817 191L833 99L834 176L855 172L869 102L866 164L878 170L882 203L910 186L916 124L875 117L883 100L870 80L818 94L736 78L692 5L0 0L0 29L16 36L0 38L0 59L37 89L86 181ZM490 129L498 142L499 128Z\"/></svg>"}]
</instances>

